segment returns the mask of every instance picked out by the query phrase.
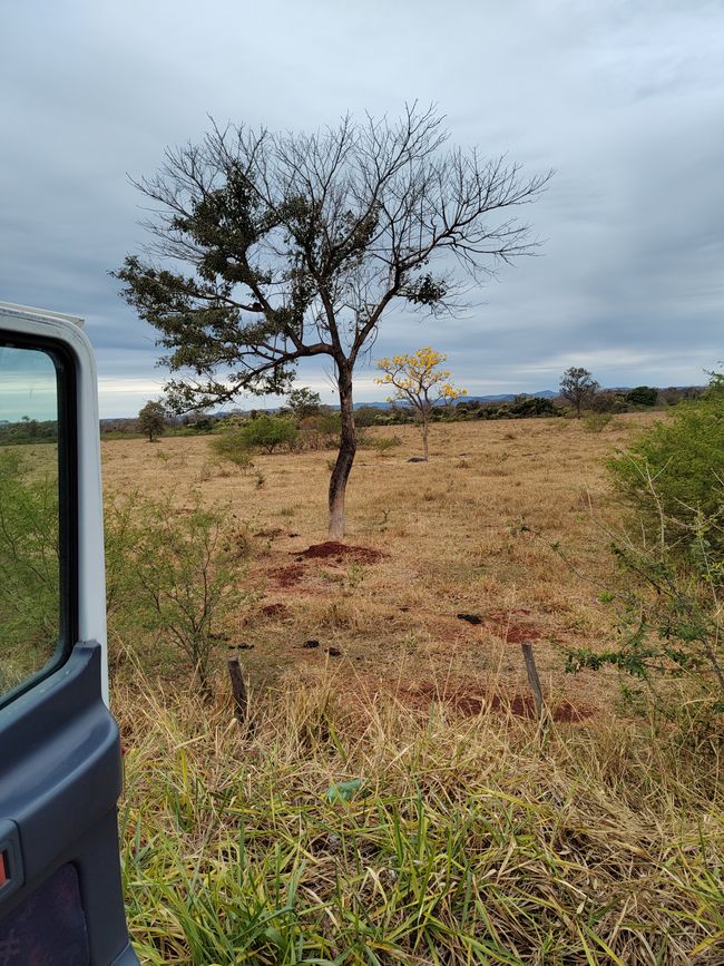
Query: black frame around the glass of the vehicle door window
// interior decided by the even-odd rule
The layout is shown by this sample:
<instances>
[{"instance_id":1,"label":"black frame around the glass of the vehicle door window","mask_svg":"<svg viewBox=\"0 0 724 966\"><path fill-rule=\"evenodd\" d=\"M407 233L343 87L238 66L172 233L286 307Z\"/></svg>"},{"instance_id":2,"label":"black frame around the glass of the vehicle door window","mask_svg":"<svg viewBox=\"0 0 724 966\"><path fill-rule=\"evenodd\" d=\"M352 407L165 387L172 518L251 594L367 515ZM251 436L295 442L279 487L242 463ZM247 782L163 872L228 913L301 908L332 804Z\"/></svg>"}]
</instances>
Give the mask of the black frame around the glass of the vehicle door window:
<instances>
[{"instance_id":1,"label":"black frame around the glass of the vehicle door window","mask_svg":"<svg viewBox=\"0 0 724 966\"><path fill-rule=\"evenodd\" d=\"M66 342L3 329L0 347L48 354L56 371L58 407L58 640L39 671L0 694L3 709L62 667L78 642L78 384L76 358Z\"/></svg>"}]
</instances>

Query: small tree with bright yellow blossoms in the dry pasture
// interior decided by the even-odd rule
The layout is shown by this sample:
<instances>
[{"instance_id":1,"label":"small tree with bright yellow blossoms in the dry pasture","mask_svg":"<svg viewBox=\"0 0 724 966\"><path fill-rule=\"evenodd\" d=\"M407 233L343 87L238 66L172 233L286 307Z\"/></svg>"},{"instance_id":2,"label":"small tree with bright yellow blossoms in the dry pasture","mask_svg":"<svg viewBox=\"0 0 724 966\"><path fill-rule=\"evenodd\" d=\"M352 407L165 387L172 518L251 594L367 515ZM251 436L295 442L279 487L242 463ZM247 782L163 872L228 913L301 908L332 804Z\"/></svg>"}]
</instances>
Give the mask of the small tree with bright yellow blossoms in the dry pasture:
<instances>
[{"instance_id":1,"label":"small tree with bright yellow blossoms in the dry pasture","mask_svg":"<svg viewBox=\"0 0 724 966\"><path fill-rule=\"evenodd\" d=\"M378 369L383 373L375 379L380 386L392 386L394 394L389 401L403 400L414 410L422 423L422 445L428 459L428 426L430 416L440 402L452 402L467 394L467 389L456 389L450 382L450 371L439 369L447 355L436 352L429 345L412 355L394 355L380 359Z\"/></svg>"}]
</instances>

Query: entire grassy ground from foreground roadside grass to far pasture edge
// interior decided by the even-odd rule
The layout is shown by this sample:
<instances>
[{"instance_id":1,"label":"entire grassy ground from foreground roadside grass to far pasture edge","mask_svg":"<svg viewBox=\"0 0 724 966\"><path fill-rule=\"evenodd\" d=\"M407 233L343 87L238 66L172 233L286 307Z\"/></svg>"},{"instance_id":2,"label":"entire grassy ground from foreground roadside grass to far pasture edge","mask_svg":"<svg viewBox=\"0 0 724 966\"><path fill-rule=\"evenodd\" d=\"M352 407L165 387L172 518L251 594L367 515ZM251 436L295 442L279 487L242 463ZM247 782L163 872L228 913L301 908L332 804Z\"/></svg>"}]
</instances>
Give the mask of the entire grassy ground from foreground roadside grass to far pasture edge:
<instances>
[{"instance_id":1,"label":"entire grassy ground from foreground roadside grass to far pasture edge","mask_svg":"<svg viewBox=\"0 0 724 966\"><path fill-rule=\"evenodd\" d=\"M616 637L605 460L653 418L434 425L428 464L414 427L368 430L400 445L358 452L343 545L329 450L242 471L211 437L104 441L109 501L225 507L241 562L211 697L111 623L143 962L724 963L715 747L564 673Z\"/></svg>"}]
</instances>

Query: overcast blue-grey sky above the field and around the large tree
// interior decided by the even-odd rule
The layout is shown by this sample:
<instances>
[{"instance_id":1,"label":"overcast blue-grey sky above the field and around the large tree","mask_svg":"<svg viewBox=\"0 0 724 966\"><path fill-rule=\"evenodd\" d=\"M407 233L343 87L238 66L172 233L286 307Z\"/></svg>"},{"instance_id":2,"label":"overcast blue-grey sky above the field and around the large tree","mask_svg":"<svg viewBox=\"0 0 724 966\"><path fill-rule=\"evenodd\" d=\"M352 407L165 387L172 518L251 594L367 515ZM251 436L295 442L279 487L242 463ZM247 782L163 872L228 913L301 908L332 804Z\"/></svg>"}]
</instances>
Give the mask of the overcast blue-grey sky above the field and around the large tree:
<instances>
[{"instance_id":1,"label":"overcast blue-grey sky above the field and around the large tree","mask_svg":"<svg viewBox=\"0 0 724 966\"><path fill-rule=\"evenodd\" d=\"M155 331L108 274L146 241L130 177L209 116L316 130L436 104L451 142L554 168L544 242L456 319L397 310L470 394L701 384L724 359L724 0L0 0L0 300L82 315L104 417L160 394ZM334 401L331 369L297 384ZM360 368L355 399L383 399ZM273 404L242 399L239 404Z\"/></svg>"}]
</instances>

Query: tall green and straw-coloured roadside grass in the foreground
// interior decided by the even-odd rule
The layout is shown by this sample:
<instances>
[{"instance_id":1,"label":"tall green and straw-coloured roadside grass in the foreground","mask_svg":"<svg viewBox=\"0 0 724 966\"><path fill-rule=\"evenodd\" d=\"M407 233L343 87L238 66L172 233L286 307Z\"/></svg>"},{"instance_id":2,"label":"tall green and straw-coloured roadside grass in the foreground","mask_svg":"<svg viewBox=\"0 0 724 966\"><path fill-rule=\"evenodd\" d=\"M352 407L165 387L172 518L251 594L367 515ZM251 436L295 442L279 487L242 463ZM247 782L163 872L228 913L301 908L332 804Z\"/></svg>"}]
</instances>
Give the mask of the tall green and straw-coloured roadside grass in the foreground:
<instances>
[{"instance_id":1,"label":"tall green and straw-coloured roadside grass in the foreground","mask_svg":"<svg viewBox=\"0 0 724 966\"><path fill-rule=\"evenodd\" d=\"M342 704L324 680L248 725L150 687L117 703L146 963L724 962L714 755L613 719Z\"/></svg>"}]
</instances>

